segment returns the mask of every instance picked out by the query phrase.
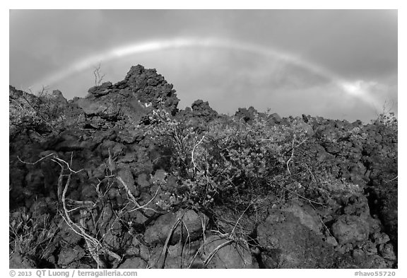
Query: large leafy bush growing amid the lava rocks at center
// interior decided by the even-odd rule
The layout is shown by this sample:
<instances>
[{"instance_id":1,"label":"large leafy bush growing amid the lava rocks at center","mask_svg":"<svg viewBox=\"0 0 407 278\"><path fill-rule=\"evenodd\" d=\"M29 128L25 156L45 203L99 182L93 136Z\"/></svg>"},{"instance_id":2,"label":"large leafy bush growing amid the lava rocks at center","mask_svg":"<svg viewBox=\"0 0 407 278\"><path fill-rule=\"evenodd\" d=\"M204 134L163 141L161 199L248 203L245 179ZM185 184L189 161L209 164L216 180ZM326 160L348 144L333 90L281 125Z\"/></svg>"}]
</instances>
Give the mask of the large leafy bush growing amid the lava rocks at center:
<instances>
[{"instance_id":1,"label":"large leafy bush growing amid the lava rocks at center","mask_svg":"<svg viewBox=\"0 0 407 278\"><path fill-rule=\"evenodd\" d=\"M172 204L208 207L216 201L247 204L259 192L281 190L309 168L295 163L294 151L309 139L299 120L271 125L268 115L256 115L252 124L237 120L211 121L196 129L163 110L153 110L145 135L170 157L168 168L184 188ZM295 174L295 175L294 175ZM273 180L281 183L272 183Z\"/></svg>"}]
</instances>

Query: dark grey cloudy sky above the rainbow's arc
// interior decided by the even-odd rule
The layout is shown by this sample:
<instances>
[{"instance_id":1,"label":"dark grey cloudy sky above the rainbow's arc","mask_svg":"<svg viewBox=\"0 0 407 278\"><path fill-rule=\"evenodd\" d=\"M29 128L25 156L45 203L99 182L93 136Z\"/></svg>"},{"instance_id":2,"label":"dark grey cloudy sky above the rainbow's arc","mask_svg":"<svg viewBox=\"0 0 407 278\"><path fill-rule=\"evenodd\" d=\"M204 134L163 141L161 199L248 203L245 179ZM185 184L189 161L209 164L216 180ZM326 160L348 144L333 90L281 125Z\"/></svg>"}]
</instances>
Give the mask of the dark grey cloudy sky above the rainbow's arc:
<instances>
[{"instance_id":1,"label":"dark grey cloudy sky above the rainbow's arc","mask_svg":"<svg viewBox=\"0 0 407 278\"><path fill-rule=\"evenodd\" d=\"M304 55L344 76L394 74L397 17L380 10L17 11L11 62L21 52L55 64L120 43L176 35L232 37ZM62 57L61 57L62 56ZM15 63L12 63L15 64Z\"/></svg>"}]
</instances>

